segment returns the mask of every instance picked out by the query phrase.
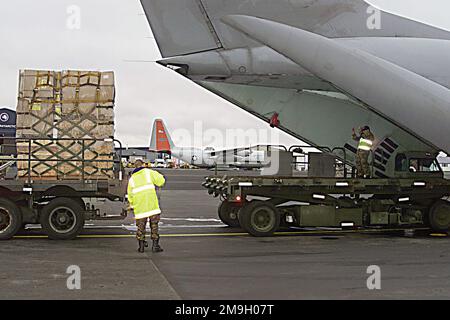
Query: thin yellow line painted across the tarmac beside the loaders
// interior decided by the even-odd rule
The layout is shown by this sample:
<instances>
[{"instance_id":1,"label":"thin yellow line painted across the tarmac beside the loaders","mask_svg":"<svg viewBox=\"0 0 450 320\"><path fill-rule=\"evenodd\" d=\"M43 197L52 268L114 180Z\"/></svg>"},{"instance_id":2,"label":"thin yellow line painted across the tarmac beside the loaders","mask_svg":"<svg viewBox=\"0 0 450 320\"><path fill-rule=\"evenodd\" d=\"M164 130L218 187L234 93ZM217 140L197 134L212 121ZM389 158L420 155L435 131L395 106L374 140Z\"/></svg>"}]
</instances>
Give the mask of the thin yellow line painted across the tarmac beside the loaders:
<instances>
[{"instance_id":1,"label":"thin yellow line painted across the tarmac beside the loaders","mask_svg":"<svg viewBox=\"0 0 450 320\"><path fill-rule=\"evenodd\" d=\"M428 228L414 229L414 231L426 231ZM368 229L368 230L311 230L311 231L287 231L275 232L275 236L298 236L298 235L324 235L324 234L365 234L365 233L387 233L405 231L405 229ZM248 237L246 232L223 232L223 233L174 233L162 234L162 238L194 238L194 237ZM93 235L79 235L82 239L118 239L118 238L134 238L134 234L93 234ZM45 235L30 235L30 236L15 236L15 239L47 239Z\"/></svg>"}]
</instances>

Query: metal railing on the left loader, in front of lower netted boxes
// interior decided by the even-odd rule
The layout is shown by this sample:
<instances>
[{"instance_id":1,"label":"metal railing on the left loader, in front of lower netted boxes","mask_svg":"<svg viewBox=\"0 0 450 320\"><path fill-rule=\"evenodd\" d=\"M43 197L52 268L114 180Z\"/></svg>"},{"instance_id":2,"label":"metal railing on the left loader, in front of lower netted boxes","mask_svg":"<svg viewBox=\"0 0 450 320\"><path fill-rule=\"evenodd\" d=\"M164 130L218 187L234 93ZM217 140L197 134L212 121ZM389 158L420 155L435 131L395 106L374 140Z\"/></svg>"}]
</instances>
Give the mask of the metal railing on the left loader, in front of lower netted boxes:
<instances>
[{"instance_id":1,"label":"metal railing on the left loader, in front of lower netted boxes","mask_svg":"<svg viewBox=\"0 0 450 320\"><path fill-rule=\"evenodd\" d=\"M17 179L34 180L89 180L116 179L124 176L122 164L122 143L117 139L76 139L76 138L10 138L14 144L3 147L16 149L15 154L0 156L0 171L14 164L20 169ZM98 143L111 143L110 153L101 153L93 147ZM115 145L119 151L115 151ZM102 164L98 167L96 165ZM61 169L66 165L67 171ZM38 171L36 168L43 167ZM66 169L67 169L66 168ZM88 172L87 169L93 172ZM49 173L53 173L49 174ZM112 175L113 176L112 176Z\"/></svg>"}]
</instances>

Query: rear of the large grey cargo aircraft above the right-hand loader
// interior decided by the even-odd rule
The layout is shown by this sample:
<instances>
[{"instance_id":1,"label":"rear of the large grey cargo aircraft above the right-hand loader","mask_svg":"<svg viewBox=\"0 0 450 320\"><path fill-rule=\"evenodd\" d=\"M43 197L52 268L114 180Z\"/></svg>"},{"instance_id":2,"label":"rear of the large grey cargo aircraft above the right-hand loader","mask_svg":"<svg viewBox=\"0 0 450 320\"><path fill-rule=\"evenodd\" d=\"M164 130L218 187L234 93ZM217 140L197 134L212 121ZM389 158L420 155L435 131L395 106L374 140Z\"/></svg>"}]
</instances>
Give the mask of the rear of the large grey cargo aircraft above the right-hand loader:
<instances>
[{"instance_id":1,"label":"rear of the large grey cargo aircraft above the right-hand loader","mask_svg":"<svg viewBox=\"0 0 450 320\"><path fill-rule=\"evenodd\" d=\"M141 3L158 63L238 107L351 165L351 128L372 128L374 178L411 177L410 159L433 175L450 152L448 31L363 0Z\"/></svg>"}]
</instances>

